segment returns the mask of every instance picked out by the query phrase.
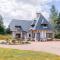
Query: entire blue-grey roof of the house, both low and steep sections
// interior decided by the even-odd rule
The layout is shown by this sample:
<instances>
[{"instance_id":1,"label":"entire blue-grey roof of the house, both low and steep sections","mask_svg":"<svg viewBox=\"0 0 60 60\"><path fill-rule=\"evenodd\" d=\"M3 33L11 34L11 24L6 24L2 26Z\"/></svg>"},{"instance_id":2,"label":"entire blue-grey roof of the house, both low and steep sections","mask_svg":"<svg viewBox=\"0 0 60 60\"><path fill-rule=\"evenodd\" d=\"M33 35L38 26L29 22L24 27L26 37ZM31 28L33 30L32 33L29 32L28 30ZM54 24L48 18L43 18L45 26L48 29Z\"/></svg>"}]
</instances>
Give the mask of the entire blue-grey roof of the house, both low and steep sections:
<instances>
[{"instance_id":1,"label":"entire blue-grey roof of the house, both low and steep sections","mask_svg":"<svg viewBox=\"0 0 60 60\"><path fill-rule=\"evenodd\" d=\"M40 13L41 14L41 13ZM47 27L41 26L42 24L47 24ZM34 26L32 26L34 25ZM17 20L13 19L10 23L10 29L11 31L15 31L15 26L21 26L23 31L29 31L29 30L52 30L51 24L44 18L44 16L41 14L39 15L39 18L36 18L34 20Z\"/></svg>"}]
</instances>

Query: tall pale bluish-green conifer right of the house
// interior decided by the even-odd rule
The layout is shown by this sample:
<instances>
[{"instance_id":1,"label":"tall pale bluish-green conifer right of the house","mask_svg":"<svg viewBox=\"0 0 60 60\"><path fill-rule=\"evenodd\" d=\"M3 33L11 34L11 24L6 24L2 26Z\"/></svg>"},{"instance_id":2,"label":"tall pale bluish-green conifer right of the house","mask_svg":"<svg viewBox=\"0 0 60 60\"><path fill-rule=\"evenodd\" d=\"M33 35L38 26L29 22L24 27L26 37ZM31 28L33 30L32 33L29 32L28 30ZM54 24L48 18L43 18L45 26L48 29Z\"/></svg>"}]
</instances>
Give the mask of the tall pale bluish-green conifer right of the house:
<instances>
[{"instance_id":1,"label":"tall pale bluish-green conifer right of the house","mask_svg":"<svg viewBox=\"0 0 60 60\"><path fill-rule=\"evenodd\" d=\"M55 8L55 5L51 6L50 9L50 23L52 24L53 29L55 30L56 20L58 18L58 11Z\"/></svg>"}]
</instances>

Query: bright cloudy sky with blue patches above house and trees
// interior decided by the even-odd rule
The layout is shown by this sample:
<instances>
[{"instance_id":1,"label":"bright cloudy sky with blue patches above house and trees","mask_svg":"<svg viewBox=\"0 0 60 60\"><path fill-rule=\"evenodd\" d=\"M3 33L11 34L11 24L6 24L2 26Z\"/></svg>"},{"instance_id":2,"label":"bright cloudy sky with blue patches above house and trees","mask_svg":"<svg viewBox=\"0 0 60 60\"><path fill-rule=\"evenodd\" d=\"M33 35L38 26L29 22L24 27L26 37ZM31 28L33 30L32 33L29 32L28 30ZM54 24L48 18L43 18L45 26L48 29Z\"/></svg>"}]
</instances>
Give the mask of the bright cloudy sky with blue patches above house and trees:
<instances>
[{"instance_id":1,"label":"bright cloudy sky with blue patches above house and trees","mask_svg":"<svg viewBox=\"0 0 60 60\"><path fill-rule=\"evenodd\" d=\"M32 20L36 12L48 19L52 4L60 11L60 0L0 0L0 15L6 27L12 19Z\"/></svg>"}]
</instances>

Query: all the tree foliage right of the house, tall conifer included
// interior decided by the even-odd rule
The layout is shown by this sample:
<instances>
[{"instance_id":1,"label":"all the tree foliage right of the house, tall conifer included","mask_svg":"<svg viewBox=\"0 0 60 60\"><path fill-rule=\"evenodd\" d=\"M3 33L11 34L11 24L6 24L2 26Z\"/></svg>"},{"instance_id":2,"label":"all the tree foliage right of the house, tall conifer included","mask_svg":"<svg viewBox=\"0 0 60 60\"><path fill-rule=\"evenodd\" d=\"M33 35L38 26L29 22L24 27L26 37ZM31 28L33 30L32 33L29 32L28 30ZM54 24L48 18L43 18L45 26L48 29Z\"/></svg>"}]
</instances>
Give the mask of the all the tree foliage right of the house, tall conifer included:
<instances>
[{"instance_id":1,"label":"all the tree foliage right of the house, tall conifer included","mask_svg":"<svg viewBox=\"0 0 60 60\"><path fill-rule=\"evenodd\" d=\"M55 32L55 38L60 38L60 13L58 13L54 5L50 9L50 22Z\"/></svg>"}]
</instances>

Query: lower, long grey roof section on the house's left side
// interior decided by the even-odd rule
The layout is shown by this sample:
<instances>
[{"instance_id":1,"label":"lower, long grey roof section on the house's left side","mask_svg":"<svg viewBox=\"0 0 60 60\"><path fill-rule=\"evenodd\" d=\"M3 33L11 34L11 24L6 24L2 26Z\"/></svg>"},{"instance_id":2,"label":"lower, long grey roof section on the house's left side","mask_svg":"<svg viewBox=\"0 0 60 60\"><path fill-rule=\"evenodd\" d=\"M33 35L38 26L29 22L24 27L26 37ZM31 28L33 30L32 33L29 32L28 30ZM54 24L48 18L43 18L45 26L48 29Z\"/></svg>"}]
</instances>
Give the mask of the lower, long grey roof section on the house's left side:
<instances>
[{"instance_id":1,"label":"lower, long grey roof section on the house's left side","mask_svg":"<svg viewBox=\"0 0 60 60\"><path fill-rule=\"evenodd\" d=\"M15 31L15 26L21 26L23 31L28 31L31 27L31 20L17 20L13 19L10 23L11 31Z\"/></svg>"}]
</instances>

